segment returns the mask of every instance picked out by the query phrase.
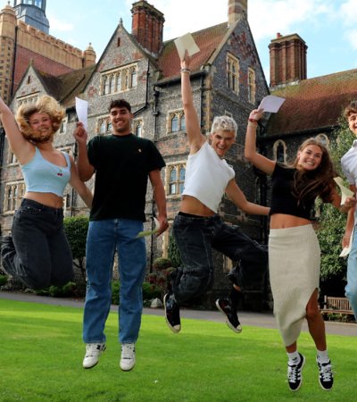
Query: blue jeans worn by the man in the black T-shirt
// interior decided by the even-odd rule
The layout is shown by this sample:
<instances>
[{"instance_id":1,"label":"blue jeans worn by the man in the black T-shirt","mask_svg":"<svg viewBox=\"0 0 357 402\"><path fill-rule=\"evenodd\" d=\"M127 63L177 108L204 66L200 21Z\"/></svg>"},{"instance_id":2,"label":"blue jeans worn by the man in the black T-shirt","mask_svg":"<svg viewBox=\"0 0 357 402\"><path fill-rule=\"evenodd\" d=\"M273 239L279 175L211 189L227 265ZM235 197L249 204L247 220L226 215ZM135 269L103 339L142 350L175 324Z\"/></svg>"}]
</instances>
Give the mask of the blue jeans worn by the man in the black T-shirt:
<instances>
[{"instance_id":1,"label":"blue jeans worn by the man in the black T-shirt","mask_svg":"<svg viewBox=\"0 0 357 402\"><path fill-rule=\"evenodd\" d=\"M104 326L112 304L112 264L119 258L120 343L135 343L143 310L145 239L135 239L143 222L109 219L89 222L87 233L87 295L83 318L85 343L105 341Z\"/></svg>"}]
</instances>

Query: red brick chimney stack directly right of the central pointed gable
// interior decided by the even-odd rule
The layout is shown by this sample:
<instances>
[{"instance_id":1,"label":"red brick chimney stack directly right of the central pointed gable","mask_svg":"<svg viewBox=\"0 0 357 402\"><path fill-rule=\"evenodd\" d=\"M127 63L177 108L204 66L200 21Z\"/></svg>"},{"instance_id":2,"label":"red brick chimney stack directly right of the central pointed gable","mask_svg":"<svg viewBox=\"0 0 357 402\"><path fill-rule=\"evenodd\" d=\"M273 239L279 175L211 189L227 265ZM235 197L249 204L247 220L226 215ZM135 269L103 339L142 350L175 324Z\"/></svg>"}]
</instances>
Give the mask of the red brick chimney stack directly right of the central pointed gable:
<instances>
[{"instance_id":1,"label":"red brick chimney stack directly right of the central pointed gable","mask_svg":"<svg viewBox=\"0 0 357 402\"><path fill-rule=\"evenodd\" d=\"M145 0L134 3L131 14L132 35L146 51L156 56L162 50L163 14Z\"/></svg>"}]
</instances>

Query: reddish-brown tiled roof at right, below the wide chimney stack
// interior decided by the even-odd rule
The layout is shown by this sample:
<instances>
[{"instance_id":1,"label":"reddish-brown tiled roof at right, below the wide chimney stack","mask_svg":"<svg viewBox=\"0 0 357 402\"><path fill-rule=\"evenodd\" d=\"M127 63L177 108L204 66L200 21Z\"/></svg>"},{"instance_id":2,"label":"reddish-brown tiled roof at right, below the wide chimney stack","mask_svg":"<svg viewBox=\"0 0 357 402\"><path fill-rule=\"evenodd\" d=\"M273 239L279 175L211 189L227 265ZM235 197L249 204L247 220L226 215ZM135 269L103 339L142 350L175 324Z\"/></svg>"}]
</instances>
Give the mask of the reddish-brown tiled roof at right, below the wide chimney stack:
<instances>
[{"instance_id":1,"label":"reddish-brown tiled roof at right, below the wide chimney stack","mask_svg":"<svg viewBox=\"0 0 357 402\"><path fill-rule=\"evenodd\" d=\"M332 128L345 106L357 99L357 70L302 80L271 94L286 101L270 116L268 136Z\"/></svg>"}]
</instances>

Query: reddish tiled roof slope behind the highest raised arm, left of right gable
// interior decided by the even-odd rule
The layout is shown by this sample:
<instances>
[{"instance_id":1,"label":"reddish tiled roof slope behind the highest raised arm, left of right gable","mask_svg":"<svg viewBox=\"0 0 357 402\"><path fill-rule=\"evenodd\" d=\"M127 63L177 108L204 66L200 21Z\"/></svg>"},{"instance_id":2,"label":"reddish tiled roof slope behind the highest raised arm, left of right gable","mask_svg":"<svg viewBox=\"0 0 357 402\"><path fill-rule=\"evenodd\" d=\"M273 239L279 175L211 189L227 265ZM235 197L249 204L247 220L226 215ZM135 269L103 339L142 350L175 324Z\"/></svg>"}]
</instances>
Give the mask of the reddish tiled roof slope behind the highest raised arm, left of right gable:
<instances>
[{"instance_id":1,"label":"reddish tiled roof slope behind the highest raised arm, left of right gable","mask_svg":"<svg viewBox=\"0 0 357 402\"><path fill-rule=\"evenodd\" d=\"M226 21L219 25L192 33L195 43L200 48L200 52L193 57L191 65L192 71L199 70L203 64L208 62L213 52L220 47L228 29L228 23ZM163 43L162 52L158 60L159 69L162 71L162 79L179 76L179 54L174 40L175 39L170 39Z\"/></svg>"}]
</instances>

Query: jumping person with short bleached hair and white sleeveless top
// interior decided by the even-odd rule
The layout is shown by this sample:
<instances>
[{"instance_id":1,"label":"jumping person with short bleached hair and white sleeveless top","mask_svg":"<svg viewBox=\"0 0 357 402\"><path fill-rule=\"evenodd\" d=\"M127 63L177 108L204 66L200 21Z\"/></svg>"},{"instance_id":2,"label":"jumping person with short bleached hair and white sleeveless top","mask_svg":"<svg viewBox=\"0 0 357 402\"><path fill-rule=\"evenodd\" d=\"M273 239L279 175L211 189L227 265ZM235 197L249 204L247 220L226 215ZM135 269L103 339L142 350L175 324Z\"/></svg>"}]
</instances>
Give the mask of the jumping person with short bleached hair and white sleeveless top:
<instances>
[{"instance_id":1,"label":"jumping person with short bleached hair and white sleeveless top","mask_svg":"<svg viewBox=\"0 0 357 402\"><path fill-rule=\"evenodd\" d=\"M222 222L217 212L225 193L247 214L268 215L269 208L247 201L237 186L234 170L223 159L236 141L236 121L228 116L215 117L211 144L201 133L189 64L186 54L181 61L181 94L190 154L179 214L173 224L183 266L172 275L170 293L164 297L166 322L171 331L179 332L179 306L212 288L214 248L238 262L239 270L233 270L230 275L234 289L228 299L218 299L216 306L226 316L228 327L239 333L242 327L236 310L237 291L262 282L268 255L266 247L248 238L237 226Z\"/></svg>"}]
</instances>

